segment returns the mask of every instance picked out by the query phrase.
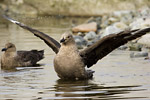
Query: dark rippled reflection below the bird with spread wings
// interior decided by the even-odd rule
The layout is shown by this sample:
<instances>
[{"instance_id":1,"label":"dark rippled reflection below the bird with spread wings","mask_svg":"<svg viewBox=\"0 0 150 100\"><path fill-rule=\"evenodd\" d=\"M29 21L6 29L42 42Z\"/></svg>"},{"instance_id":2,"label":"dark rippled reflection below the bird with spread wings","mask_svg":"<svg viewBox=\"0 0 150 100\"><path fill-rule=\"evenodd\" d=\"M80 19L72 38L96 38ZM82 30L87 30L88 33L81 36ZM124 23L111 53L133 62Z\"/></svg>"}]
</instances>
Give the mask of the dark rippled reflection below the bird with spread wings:
<instances>
[{"instance_id":1,"label":"dark rippled reflection below the bird with spread wings","mask_svg":"<svg viewBox=\"0 0 150 100\"><path fill-rule=\"evenodd\" d=\"M42 92L42 94L54 93L56 97L40 97L39 99L61 99L61 100L116 100L116 99L142 99L143 97L127 97L119 96L119 94L127 94L132 91L141 91L134 89L140 86L112 86L105 87L92 83L92 80L85 81L64 81L57 80L54 90L50 89ZM39 92L41 94L41 92Z\"/></svg>"}]
</instances>

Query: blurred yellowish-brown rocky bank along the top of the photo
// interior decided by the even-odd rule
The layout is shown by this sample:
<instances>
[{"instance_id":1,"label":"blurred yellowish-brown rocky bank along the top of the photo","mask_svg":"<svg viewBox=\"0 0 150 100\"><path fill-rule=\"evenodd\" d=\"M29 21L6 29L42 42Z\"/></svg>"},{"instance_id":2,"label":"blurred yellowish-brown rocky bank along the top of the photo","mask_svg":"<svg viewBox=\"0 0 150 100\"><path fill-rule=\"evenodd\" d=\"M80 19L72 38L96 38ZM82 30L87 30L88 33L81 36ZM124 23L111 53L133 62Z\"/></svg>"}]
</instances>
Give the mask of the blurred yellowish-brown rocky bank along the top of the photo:
<instances>
[{"instance_id":1,"label":"blurred yellowish-brown rocky bank along the top of the photo","mask_svg":"<svg viewBox=\"0 0 150 100\"><path fill-rule=\"evenodd\" d=\"M29 16L101 16L150 6L150 0L0 0L0 9Z\"/></svg>"}]
</instances>

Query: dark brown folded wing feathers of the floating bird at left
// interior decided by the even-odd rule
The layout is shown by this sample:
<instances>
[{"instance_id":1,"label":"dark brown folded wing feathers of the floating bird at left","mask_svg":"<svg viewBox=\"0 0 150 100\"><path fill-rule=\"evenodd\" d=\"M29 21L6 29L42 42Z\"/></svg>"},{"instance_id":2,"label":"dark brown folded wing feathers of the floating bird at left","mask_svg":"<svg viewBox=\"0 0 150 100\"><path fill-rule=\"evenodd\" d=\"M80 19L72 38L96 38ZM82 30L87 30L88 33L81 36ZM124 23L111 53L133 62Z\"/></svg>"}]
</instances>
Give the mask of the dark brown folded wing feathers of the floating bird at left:
<instances>
[{"instance_id":1,"label":"dark brown folded wing feathers of the floating bird at left","mask_svg":"<svg viewBox=\"0 0 150 100\"><path fill-rule=\"evenodd\" d=\"M17 55L16 60L20 62L31 62L34 65L44 58L44 50L17 51Z\"/></svg>"}]
</instances>

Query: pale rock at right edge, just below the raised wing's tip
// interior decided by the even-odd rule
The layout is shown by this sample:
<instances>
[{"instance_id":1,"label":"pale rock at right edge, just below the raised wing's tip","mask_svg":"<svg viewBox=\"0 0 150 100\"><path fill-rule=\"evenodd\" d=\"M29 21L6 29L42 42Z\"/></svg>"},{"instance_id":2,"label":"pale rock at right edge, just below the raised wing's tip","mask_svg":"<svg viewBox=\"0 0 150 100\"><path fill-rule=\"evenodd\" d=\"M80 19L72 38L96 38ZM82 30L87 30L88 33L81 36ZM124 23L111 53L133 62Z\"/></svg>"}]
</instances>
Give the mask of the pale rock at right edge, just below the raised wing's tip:
<instances>
[{"instance_id":1,"label":"pale rock at right edge, just below the raised wing's tip","mask_svg":"<svg viewBox=\"0 0 150 100\"><path fill-rule=\"evenodd\" d=\"M150 34L143 35L137 42L150 47Z\"/></svg>"}]
</instances>

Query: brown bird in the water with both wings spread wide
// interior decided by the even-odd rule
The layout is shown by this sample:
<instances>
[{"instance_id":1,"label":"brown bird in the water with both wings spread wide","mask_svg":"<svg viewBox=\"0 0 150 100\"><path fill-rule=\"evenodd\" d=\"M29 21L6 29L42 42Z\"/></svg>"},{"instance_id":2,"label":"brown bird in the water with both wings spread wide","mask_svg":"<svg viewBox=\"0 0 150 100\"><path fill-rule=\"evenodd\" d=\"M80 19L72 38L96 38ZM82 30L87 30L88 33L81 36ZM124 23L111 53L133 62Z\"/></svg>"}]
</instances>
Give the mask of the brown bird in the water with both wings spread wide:
<instances>
[{"instance_id":1,"label":"brown bird in the water with both wings spread wide","mask_svg":"<svg viewBox=\"0 0 150 100\"><path fill-rule=\"evenodd\" d=\"M7 16L4 16L4 18L32 32L35 36L44 40L44 42L52 48L52 50L56 53L54 59L55 71L62 79L91 78L93 76L93 71L86 71L85 66L88 68L91 67L96 64L98 60L102 59L119 46L150 32L150 28L145 28L111 34L79 52L73 36L70 33L64 33L61 37L61 44L59 44L55 39L36 29L32 29Z\"/></svg>"}]
</instances>

